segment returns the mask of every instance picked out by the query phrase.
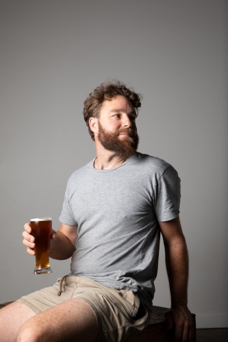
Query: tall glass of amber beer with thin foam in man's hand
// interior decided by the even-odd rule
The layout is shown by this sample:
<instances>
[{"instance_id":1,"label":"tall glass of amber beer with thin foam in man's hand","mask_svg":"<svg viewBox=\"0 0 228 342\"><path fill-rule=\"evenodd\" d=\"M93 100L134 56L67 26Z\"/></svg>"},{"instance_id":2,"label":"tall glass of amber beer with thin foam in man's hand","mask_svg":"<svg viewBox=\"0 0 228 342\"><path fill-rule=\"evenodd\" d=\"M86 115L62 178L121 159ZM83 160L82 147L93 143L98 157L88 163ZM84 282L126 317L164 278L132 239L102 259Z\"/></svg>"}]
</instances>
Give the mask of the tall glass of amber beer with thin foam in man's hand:
<instances>
[{"instance_id":1,"label":"tall glass of amber beer with thin foam in man's hand","mask_svg":"<svg viewBox=\"0 0 228 342\"><path fill-rule=\"evenodd\" d=\"M51 243L51 218L31 218L31 235L35 237L36 267L34 274L51 273L49 250Z\"/></svg>"}]
</instances>

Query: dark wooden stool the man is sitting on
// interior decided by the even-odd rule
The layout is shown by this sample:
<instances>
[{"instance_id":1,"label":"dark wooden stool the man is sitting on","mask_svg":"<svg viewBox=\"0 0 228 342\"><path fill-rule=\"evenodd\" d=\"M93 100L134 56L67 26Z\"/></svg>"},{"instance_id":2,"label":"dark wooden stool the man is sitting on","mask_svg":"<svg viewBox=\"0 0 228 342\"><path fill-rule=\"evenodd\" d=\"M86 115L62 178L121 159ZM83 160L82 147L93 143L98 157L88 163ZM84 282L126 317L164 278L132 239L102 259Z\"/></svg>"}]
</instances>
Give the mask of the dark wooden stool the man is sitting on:
<instances>
[{"instance_id":1,"label":"dark wooden stool the man is sitting on","mask_svg":"<svg viewBox=\"0 0 228 342\"><path fill-rule=\"evenodd\" d=\"M10 304L12 302L6 302L0 304L0 308ZM153 306L151 321L149 326L138 332L134 336L128 337L125 342L172 342L173 341L173 330L167 330L164 323L164 313L168 308L162 308L161 306ZM196 337L196 315L192 314L194 321L194 338L192 342L197 342Z\"/></svg>"}]
</instances>

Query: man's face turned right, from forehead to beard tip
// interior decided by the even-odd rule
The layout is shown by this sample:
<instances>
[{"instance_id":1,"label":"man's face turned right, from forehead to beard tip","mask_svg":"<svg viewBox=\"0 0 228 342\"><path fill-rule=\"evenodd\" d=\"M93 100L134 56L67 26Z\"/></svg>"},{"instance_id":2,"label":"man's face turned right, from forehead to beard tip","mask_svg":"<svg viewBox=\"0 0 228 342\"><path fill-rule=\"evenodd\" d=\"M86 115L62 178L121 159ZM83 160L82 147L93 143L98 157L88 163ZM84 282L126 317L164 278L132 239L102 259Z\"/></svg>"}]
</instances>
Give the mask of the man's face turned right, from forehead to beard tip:
<instances>
[{"instance_id":1,"label":"man's face turned right, from forehead to beard tip","mask_svg":"<svg viewBox=\"0 0 228 342\"><path fill-rule=\"evenodd\" d=\"M97 138L106 150L127 159L138 147L136 111L125 96L115 96L105 101L98 120Z\"/></svg>"}]
</instances>

